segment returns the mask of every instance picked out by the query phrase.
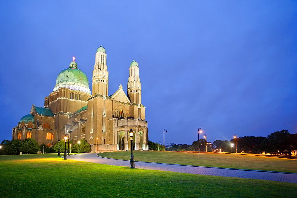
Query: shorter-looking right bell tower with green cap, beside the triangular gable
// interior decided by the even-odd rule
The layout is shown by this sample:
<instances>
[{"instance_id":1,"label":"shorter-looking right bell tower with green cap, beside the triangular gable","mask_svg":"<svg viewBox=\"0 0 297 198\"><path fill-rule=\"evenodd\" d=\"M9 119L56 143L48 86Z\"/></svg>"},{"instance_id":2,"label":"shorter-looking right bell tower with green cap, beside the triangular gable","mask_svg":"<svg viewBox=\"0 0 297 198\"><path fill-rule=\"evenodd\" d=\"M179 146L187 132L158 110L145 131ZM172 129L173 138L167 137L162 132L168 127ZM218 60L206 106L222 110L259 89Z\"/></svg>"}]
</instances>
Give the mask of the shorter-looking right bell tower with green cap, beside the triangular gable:
<instances>
[{"instance_id":1,"label":"shorter-looking right bell tower with green cap, beside the triangular gable","mask_svg":"<svg viewBox=\"0 0 297 198\"><path fill-rule=\"evenodd\" d=\"M133 60L129 68L129 79L127 84L128 97L132 103L141 105L141 83L139 78L138 63Z\"/></svg>"}]
</instances>

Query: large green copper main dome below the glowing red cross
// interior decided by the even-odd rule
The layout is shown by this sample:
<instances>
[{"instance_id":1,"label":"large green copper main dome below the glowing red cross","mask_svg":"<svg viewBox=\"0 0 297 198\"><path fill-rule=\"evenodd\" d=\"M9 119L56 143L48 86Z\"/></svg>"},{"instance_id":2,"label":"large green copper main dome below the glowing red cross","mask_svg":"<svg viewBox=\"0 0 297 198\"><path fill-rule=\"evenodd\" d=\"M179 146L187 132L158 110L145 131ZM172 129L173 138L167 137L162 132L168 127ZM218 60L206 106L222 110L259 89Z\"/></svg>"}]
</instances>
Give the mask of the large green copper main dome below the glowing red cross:
<instances>
[{"instance_id":1,"label":"large green copper main dome below the glowing red cross","mask_svg":"<svg viewBox=\"0 0 297 198\"><path fill-rule=\"evenodd\" d=\"M61 71L56 80L56 85L63 82L76 82L89 87L88 77L78 68L69 67Z\"/></svg>"}]
</instances>

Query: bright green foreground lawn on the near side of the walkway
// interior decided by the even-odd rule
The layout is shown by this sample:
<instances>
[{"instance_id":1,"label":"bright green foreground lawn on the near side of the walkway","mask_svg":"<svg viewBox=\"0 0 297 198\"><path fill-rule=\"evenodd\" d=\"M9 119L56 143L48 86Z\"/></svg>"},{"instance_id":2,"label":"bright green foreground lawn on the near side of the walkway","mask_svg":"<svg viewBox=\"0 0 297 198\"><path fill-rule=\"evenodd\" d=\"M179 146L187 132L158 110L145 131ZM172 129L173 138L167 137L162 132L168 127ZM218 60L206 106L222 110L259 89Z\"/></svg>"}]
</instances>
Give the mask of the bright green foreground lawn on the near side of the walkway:
<instances>
[{"instance_id":1,"label":"bright green foreground lawn on the near side of the walkway","mask_svg":"<svg viewBox=\"0 0 297 198\"><path fill-rule=\"evenodd\" d=\"M297 184L64 160L0 156L0 197L292 197Z\"/></svg>"}]
</instances>

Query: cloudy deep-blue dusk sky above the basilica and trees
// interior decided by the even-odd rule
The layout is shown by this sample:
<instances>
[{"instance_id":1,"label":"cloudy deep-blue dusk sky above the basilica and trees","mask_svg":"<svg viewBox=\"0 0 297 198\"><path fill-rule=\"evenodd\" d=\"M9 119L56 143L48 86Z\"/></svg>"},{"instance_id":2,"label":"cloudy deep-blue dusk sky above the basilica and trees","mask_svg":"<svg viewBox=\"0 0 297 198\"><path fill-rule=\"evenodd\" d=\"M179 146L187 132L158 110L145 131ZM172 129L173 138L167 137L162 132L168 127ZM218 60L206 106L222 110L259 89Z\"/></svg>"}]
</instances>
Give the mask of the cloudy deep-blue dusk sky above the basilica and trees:
<instances>
[{"instance_id":1,"label":"cloudy deep-blue dusk sky above the basilica and trees","mask_svg":"<svg viewBox=\"0 0 297 198\"><path fill-rule=\"evenodd\" d=\"M138 62L149 140L192 144L297 133L297 1L1 1L0 142L44 106L72 57L109 91Z\"/></svg>"}]
</instances>

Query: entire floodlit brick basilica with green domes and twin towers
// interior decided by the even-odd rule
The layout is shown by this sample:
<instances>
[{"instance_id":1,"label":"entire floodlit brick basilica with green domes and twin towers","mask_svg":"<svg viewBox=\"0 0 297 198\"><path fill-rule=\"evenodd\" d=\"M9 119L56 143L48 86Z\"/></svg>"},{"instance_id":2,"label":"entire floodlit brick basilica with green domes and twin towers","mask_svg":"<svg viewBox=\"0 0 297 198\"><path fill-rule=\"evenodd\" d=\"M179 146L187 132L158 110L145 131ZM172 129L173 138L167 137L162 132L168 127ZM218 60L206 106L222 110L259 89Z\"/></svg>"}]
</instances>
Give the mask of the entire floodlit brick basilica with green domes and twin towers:
<instances>
[{"instance_id":1,"label":"entire floodlit brick basilica with green domes and twin towers","mask_svg":"<svg viewBox=\"0 0 297 198\"><path fill-rule=\"evenodd\" d=\"M100 46L95 54L92 92L86 74L73 57L69 67L58 75L53 92L45 97L44 107L32 105L30 114L12 128L12 139L34 138L39 145L53 146L69 134L73 143L84 139L91 145L91 152L97 153L131 149L132 129L133 149L148 150L138 63L133 60L130 64L127 95L122 85L108 95L106 57L105 48Z\"/></svg>"}]
</instances>

